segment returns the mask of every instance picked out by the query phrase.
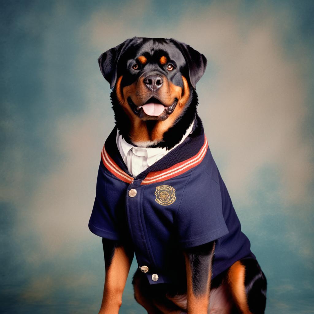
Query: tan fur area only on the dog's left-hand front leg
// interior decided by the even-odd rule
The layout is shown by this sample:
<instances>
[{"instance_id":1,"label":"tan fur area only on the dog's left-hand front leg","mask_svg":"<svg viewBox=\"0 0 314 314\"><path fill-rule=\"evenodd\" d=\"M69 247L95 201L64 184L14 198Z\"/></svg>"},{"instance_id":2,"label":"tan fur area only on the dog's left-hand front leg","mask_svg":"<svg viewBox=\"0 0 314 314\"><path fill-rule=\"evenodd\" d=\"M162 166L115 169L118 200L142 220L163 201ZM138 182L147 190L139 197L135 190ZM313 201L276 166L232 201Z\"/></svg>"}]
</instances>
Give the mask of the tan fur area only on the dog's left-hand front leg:
<instances>
[{"instance_id":1,"label":"tan fur area only on the dog's left-hand front leg","mask_svg":"<svg viewBox=\"0 0 314 314\"><path fill-rule=\"evenodd\" d=\"M120 308L130 266L130 260L123 246L116 247L111 264L109 267L106 267L104 294L100 312L114 313Z\"/></svg>"}]
</instances>

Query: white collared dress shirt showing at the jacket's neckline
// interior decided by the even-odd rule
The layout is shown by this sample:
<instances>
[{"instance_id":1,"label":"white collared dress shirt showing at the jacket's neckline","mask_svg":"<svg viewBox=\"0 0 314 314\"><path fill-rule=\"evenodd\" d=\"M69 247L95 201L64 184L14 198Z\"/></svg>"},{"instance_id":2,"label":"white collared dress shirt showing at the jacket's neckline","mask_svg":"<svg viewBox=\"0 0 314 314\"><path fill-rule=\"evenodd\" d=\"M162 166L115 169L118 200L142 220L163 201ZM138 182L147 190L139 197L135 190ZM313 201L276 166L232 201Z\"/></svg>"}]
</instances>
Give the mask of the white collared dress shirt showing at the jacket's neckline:
<instances>
[{"instance_id":1,"label":"white collared dress shirt showing at the jacket's neckline","mask_svg":"<svg viewBox=\"0 0 314 314\"><path fill-rule=\"evenodd\" d=\"M136 147L132 144L127 143L122 135L119 134L117 129L116 143L119 152L122 156L124 163L127 165L128 171L133 177L143 172L145 169L153 165L157 160L164 157L165 154L169 153L176 146L180 145L185 138L191 133L194 121L188 127L186 133L181 139L180 143L176 144L173 148L167 150L166 148L156 147L156 148L145 148Z\"/></svg>"}]
</instances>

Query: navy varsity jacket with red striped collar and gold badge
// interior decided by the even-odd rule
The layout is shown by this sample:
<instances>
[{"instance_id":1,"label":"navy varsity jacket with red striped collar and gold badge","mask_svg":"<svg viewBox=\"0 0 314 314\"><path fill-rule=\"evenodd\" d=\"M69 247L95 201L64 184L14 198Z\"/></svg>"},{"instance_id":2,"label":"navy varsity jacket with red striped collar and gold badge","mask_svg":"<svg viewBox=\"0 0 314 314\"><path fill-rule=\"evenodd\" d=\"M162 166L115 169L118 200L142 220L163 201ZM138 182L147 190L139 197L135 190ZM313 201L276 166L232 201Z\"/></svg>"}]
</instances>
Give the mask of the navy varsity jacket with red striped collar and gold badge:
<instances>
[{"instance_id":1,"label":"navy varsity jacket with red striped collar and gold badge","mask_svg":"<svg viewBox=\"0 0 314 314\"><path fill-rule=\"evenodd\" d=\"M241 258L255 258L203 127L135 178L116 146L115 127L101 152L89 229L131 239L150 284L186 282L182 250L210 241L212 278Z\"/></svg>"}]
</instances>

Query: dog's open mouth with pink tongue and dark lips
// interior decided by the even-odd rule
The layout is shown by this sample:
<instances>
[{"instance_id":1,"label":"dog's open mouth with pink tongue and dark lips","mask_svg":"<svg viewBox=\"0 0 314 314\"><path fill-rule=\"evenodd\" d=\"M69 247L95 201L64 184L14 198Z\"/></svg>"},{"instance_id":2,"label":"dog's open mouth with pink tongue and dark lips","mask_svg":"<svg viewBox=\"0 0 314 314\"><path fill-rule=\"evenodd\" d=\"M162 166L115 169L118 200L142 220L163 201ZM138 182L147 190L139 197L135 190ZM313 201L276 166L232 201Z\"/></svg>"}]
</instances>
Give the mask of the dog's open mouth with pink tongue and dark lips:
<instances>
[{"instance_id":1,"label":"dog's open mouth with pink tongue and dark lips","mask_svg":"<svg viewBox=\"0 0 314 314\"><path fill-rule=\"evenodd\" d=\"M145 116L144 113L147 116L155 116L155 117L162 115L164 112L165 114L168 114L168 115L171 114L176 108L178 99L175 98L171 106L165 106L159 99L155 97L149 98L149 100L147 100L142 106L136 106L134 102L132 101L131 97L127 98L127 102L130 105L134 114L142 118L143 116Z\"/></svg>"}]
</instances>

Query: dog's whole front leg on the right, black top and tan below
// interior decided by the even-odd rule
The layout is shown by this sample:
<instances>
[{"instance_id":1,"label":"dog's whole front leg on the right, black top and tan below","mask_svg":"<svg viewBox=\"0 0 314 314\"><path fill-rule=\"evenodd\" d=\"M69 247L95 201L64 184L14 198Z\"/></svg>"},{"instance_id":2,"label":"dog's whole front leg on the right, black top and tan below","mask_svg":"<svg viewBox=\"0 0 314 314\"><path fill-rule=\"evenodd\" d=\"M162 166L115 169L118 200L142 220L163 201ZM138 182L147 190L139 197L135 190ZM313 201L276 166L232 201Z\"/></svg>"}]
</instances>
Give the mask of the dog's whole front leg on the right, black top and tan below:
<instances>
[{"instance_id":1,"label":"dog's whole front leg on the right, black top and tan below","mask_svg":"<svg viewBox=\"0 0 314 314\"><path fill-rule=\"evenodd\" d=\"M215 242L212 241L184 251L188 314L207 314L208 312L214 250Z\"/></svg>"}]
</instances>

